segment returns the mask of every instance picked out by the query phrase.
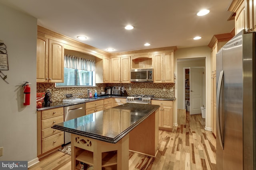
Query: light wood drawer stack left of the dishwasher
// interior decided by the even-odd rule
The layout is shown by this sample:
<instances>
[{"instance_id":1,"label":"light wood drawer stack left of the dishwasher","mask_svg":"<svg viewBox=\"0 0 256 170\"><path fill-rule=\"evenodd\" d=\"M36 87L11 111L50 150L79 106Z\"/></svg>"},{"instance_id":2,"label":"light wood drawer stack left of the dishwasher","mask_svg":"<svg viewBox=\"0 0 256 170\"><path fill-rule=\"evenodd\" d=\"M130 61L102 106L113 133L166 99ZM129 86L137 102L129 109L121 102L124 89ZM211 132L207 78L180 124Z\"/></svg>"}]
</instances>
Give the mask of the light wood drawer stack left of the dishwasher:
<instances>
[{"instance_id":1,"label":"light wood drawer stack left of the dishwasher","mask_svg":"<svg viewBox=\"0 0 256 170\"><path fill-rule=\"evenodd\" d=\"M51 127L64 121L64 108L37 111L37 155L42 158L64 144L64 132Z\"/></svg>"}]
</instances>

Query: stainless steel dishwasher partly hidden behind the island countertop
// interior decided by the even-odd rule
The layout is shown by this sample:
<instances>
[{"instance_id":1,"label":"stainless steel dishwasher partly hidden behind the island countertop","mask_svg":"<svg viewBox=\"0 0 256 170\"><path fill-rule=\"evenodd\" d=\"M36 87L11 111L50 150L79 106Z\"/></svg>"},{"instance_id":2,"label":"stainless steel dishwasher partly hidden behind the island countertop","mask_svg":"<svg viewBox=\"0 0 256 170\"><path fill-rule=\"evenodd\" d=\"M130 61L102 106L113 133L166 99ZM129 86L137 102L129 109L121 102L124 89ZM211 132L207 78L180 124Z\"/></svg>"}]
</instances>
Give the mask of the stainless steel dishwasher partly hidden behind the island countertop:
<instances>
[{"instance_id":1,"label":"stainless steel dishwasher partly hidden behind the island countertop","mask_svg":"<svg viewBox=\"0 0 256 170\"><path fill-rule=\"evenodd\" d=\"M81 117L85 115L85 103L83 104L75 104L71 106L64 107L64 121L68 121L74 119L73 123L76 123L77 117ZM68 132L64 132L64 144L67 144L71 141L71 134Z\"/></svg>"}]
</instances>

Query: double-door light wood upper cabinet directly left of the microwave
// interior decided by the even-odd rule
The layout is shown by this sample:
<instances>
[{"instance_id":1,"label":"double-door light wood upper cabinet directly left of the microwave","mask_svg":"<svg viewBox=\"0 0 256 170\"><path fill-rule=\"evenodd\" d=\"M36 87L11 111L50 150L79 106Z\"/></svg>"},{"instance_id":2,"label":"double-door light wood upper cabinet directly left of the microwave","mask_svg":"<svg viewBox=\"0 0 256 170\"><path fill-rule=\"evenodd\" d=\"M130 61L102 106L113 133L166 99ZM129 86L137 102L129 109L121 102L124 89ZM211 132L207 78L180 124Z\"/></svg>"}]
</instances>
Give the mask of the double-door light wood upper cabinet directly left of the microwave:
<instances>
[{"instance_id":1,"label":"double-door light wood upper cabinet directly left of the microwave","mask_svg":"<svg viewBox=\"0 0 256 170\"><path fill-rule=\"evenodd\" d=\"M129 83L131 57L116 57L111 59L111 82Z\"/></svg>"}]
</instances>

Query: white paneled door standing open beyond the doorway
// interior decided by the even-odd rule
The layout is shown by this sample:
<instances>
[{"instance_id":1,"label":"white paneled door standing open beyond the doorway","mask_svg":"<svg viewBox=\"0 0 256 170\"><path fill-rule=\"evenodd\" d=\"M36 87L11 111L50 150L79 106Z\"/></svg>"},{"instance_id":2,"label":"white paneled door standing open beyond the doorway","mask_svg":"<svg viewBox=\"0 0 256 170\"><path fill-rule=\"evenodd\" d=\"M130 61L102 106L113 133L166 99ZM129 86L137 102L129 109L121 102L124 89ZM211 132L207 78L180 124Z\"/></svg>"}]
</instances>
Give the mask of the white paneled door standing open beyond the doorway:
<instances>
[{"instance_id":1,"label":"white paneled door standing open beyond the doorway","mask_svg":"<svg viewBox=\"0 0 256 170\"><path fill-rule=\"evenodd\" d=\"M201 113L203 72L203 68L190 67L190 115Z\"/></svg>"}]
</instances>

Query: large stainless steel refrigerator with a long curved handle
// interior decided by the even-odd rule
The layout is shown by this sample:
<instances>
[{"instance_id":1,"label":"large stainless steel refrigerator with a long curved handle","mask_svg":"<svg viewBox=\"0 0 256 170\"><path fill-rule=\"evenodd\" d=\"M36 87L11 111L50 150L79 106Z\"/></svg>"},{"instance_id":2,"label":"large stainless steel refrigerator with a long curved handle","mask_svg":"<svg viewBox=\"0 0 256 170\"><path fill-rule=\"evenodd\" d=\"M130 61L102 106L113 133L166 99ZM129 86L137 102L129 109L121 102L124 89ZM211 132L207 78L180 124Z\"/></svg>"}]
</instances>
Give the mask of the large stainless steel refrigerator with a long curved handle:
<instances>
[{"instance_id":1,"label":"large stainless steel refrigerator with a long curved handle","mask_svg":"<svg viewBox=\"0 0 256 170\"><path fill-rule=\"evenodd\" d=\"M218 170L255 170L256 37L242 30L216 54Z\"/></svg>"}]
</instances>

